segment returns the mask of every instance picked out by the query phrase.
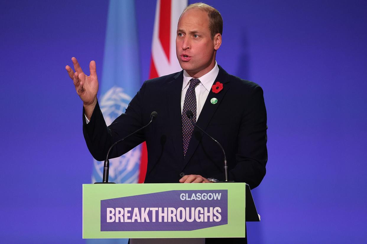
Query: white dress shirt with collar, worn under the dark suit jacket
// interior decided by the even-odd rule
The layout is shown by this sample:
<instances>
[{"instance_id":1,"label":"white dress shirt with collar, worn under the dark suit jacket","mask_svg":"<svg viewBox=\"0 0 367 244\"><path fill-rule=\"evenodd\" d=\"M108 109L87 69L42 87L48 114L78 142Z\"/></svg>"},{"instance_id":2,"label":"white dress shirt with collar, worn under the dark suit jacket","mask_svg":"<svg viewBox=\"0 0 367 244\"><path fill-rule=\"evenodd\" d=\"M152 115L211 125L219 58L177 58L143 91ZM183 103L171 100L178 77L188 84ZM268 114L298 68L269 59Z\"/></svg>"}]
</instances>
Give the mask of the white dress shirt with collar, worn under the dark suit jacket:
<instances>
[{"instance_id":1,"label":"white dress shirt with collar, worn under the dark suit jacket","mask_svg":"<svg viewBox=\"0 0 367 244\"><path fill-rule=\"evenodd\" d=\"M203 109L204 103L208 97L208 94L211 90L211 86L214 83L215 78L219 73L219 68L217 61L215 61L215 66L212 68L211 71L206 73L205 75L197 78L200 80L200 83L195 87L195 94L196 94L196 120L199 118L200 112ZM189 89L190 80L192 77L184 70L183 71L183 82L182 82L182 90L181 90L181 114L183 109L183 102L185 102L185 95L187 89ZM85 116L85 115L84 115ZM87 124L89 120L86 117Z\"/></svg>"}]
</instances>

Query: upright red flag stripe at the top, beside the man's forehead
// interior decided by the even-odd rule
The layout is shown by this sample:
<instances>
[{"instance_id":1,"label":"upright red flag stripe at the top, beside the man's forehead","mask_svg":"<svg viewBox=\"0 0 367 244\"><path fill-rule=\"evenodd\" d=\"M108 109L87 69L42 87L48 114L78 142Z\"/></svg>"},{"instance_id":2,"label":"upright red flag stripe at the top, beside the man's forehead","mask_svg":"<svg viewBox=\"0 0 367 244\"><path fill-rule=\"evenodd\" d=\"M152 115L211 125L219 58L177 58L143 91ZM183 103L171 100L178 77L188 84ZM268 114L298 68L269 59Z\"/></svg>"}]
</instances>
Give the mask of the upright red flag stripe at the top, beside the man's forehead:
<instances>
[{"instance_id":1,"label":"upright red flag stripe at the top, beside the man's forehead","mask_svg":"<svg viewBox=\"0 0 367 244\"><path fill-rule=\"evenodd\" d=\"M159 40L170 61L171 0L161 0L159 10Z\"/></svg>"}]
</instances>

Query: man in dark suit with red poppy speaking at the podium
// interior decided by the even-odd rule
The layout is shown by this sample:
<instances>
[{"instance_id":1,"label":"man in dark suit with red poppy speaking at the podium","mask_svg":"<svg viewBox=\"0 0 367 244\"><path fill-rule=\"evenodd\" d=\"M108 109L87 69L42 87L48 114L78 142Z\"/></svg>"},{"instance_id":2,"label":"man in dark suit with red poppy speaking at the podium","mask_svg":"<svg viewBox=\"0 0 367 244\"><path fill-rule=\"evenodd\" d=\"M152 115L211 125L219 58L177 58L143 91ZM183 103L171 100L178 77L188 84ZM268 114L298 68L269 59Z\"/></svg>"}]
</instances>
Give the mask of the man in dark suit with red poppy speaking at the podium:
<instances>
[{"instance_id":1,"label":"man in dark suit with red poppy speaking at the podium","mask_svg":"<svg viewBox=\"0 0 367 244\"><path fill-rule=\"evenodd\" d=\"M229 75L215 61L222 43L223 20L203 3L191 4L177 27L176 54L183 71L144 82L126 112L106 126L97 101L95 62L90 76L72 58L75 73L66 66L83 101L83 133L95 159L103 161L108 148L137 130L156 111L157 119L140 133L113 147L118 157L146 141L145 183L212 183L224 180L223 154L218 145L186 116L222 144L229 180L257 187L265 176L266 110L261 87ZM207 240L215 243L219 239ZM229 239L226 243L242 240Z\"/></svg>"}]
</instances>

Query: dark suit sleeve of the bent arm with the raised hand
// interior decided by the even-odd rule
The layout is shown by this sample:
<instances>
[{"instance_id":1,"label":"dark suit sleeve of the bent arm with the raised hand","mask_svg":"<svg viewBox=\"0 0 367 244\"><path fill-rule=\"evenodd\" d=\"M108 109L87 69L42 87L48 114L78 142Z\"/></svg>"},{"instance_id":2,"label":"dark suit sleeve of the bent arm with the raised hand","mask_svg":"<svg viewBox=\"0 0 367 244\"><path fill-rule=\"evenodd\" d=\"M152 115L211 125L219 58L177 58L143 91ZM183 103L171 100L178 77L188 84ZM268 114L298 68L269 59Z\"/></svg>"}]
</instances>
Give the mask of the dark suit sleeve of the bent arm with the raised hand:
<instances>
[{"instance_id":1,"label":"dark suit sleeve of the bent arm with the raised hand","mask_svg":"<svg viewBox=\"0 0 367 244\"><path fill-rule=\"evenodd\" d=\"M106 159L109 147L117 140L120 140L143 127L141 104L144 90L145 83L135 97L132 98L126 112L117 117L117 119L115 119L109 126L106 125L106 122L103 119L98 102L88 124L84 118L83 108L84 139L86 140L90 153L97 161L104 161ZM119 157L144 141L144 132L140 131L114 146L111 149L108 158Z\"/></svg>"}]
</instances>

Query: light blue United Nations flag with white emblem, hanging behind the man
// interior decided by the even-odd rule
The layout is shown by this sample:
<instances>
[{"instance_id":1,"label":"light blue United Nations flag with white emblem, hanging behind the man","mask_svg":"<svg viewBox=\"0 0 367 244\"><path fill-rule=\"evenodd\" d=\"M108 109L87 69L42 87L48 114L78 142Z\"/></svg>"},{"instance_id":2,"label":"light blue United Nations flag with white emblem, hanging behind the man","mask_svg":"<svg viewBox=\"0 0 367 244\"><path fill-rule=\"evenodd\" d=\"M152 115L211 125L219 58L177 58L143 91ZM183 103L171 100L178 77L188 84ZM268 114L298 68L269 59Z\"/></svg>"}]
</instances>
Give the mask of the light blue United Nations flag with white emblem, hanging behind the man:
<instances>
[{"instance_id":1,"label":"light blue United Nations flag with white emblem, hanging behind the man","mask_svg":"<svg viewBox=\"0 0 367 244\"><path fill-rule=\"evenodd\" d=\"M138 35L133 0L110 0L100 79L99 105L106 124L110 125L125 112L130 100L141 87ZM125 155L110 159L109 181L137 183L141 146ZM92 183L101 182L103 162L93 163Z\"/></svg>"}]
</instances>

